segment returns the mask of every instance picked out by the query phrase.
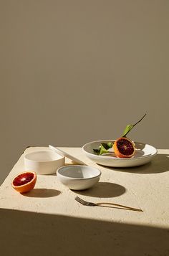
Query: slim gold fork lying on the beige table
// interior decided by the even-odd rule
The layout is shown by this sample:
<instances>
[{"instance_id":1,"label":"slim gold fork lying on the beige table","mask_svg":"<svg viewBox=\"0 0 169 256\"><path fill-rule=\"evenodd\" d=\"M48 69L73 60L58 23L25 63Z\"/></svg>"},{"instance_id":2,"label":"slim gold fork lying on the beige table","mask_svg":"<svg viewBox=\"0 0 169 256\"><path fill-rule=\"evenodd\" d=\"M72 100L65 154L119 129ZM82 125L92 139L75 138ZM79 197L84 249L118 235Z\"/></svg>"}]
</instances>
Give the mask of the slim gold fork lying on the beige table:
<instances>
[{"instance_id":1,"label":"slim gold fork lying on the beige table","mask_svg":"<svg viewBox=\"0 0 169 256\"><path fill-rule=\"evenodd\" d=\"M79 196L76 196L74 199L77 202L79 202L80 204L85 205L87 207L110 207L110 206L107 206L107 205L112 205L112 206L115 206L115 207L111 207L111 208L143 212L142 209L137 209L137 208L133 208L133 207L126 207L125 205L122 205L122 204L104 203L104 202L102 202L102 203L87 202L87 201L84 201L83 199L79 198ZM104 205L104 204L107 204L107 205Z\"/></svg>"}]
</instances>

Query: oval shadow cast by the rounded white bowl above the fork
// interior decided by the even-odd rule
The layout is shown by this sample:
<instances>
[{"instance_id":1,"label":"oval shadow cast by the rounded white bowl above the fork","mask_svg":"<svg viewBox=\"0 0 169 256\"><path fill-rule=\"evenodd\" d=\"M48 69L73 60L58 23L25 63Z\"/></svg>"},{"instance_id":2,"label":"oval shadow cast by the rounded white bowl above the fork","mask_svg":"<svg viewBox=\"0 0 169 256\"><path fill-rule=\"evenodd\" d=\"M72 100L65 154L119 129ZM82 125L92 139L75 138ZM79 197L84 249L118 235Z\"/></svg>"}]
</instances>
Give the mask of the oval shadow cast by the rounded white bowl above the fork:
<instances>
[{"instance_id":1,"label":"oval shadow cast by the rounded white bowl above the fork","mask_svg":"<svg viewBox=\"0 0 169 256\"><path fill-rule=\"evenodd\" d=\"M73 190L72 190L73 191ZM82 194L93 197L115 197L121 196L126 191L124 186L110 182L98 182L91 189L74 191L75 194Z\"/></svg>"}]
</instances>

